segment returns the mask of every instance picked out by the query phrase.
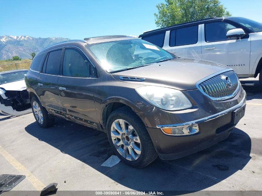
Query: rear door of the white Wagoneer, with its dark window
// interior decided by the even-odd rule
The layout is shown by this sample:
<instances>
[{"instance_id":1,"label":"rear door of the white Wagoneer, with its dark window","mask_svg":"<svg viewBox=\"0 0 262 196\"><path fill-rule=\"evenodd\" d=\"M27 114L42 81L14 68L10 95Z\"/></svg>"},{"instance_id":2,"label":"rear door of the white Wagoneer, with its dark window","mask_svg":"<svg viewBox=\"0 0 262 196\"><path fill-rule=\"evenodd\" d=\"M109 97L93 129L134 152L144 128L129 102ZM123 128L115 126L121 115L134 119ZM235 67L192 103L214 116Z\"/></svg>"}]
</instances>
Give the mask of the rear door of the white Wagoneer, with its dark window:
<instances>
[{"instance_id":1,"label":"rear door of the white Wagoneer, with its dark window","mask_svg":"<svg viewBox=\"0 0 262 196\"><path fill-rule=\"evenodd\" d=\"M201 25L167 31L163 49L178 57L202 59Z\"/></svg>"}]
</instances>

